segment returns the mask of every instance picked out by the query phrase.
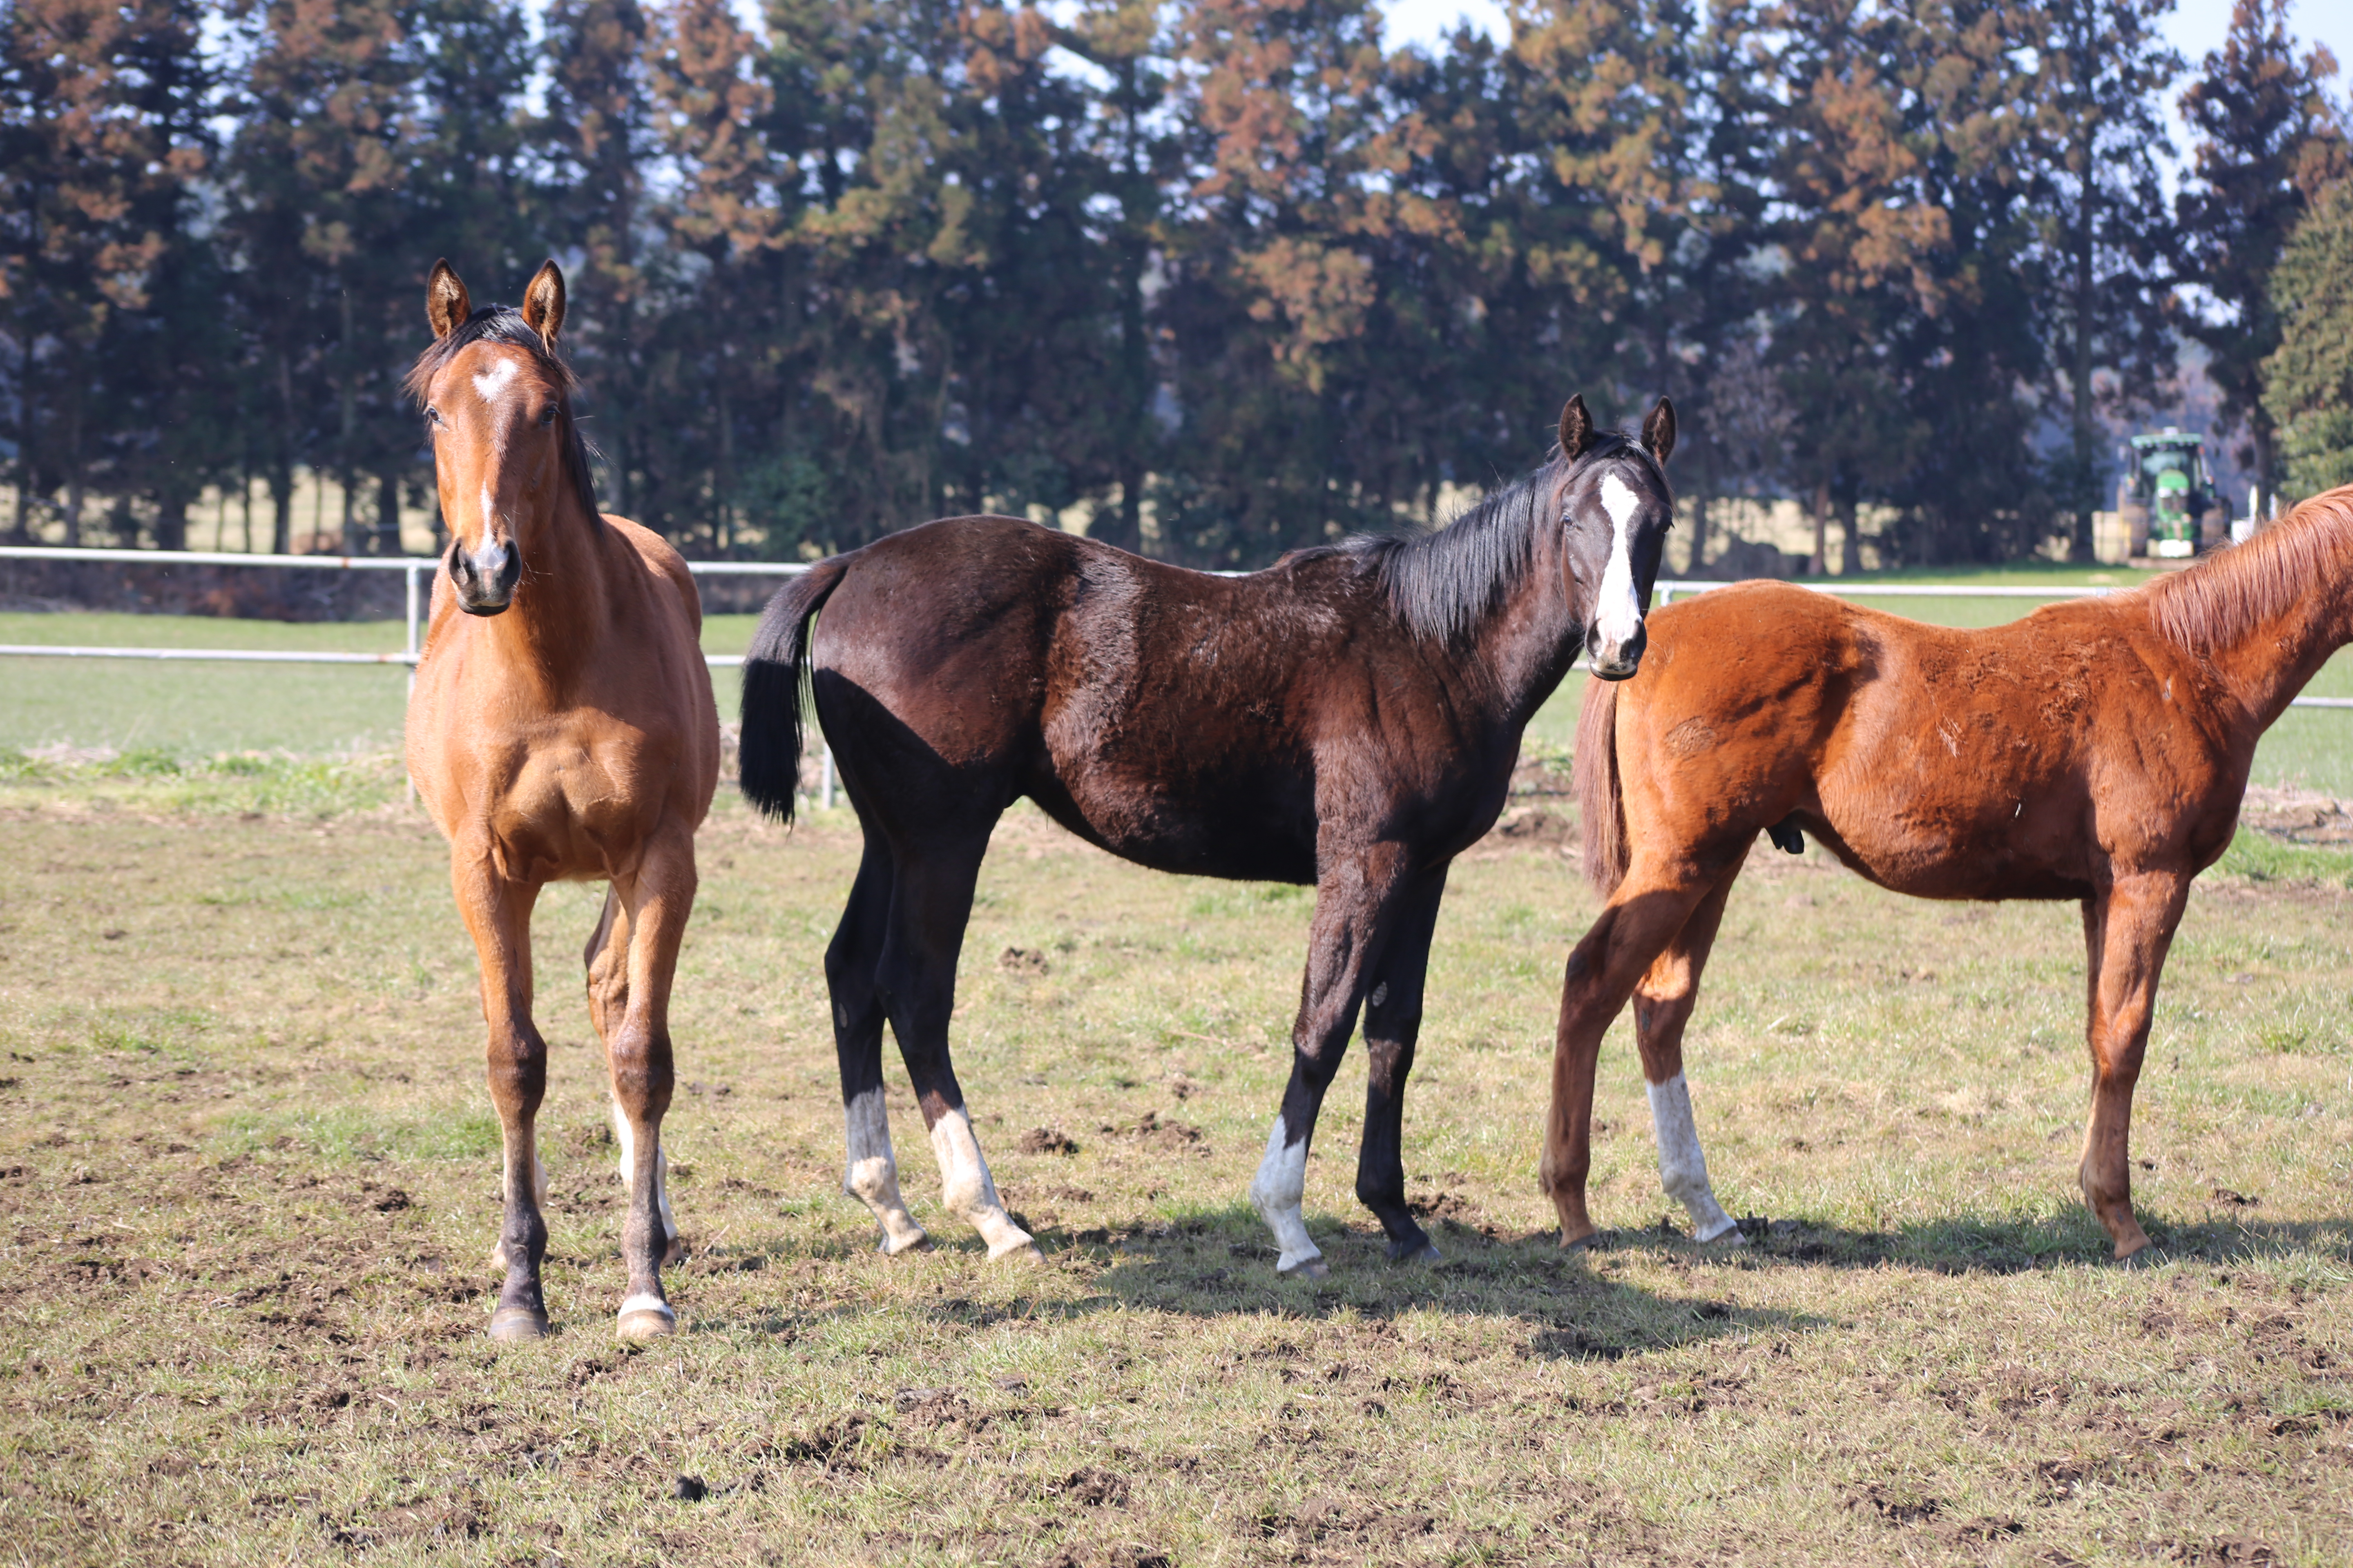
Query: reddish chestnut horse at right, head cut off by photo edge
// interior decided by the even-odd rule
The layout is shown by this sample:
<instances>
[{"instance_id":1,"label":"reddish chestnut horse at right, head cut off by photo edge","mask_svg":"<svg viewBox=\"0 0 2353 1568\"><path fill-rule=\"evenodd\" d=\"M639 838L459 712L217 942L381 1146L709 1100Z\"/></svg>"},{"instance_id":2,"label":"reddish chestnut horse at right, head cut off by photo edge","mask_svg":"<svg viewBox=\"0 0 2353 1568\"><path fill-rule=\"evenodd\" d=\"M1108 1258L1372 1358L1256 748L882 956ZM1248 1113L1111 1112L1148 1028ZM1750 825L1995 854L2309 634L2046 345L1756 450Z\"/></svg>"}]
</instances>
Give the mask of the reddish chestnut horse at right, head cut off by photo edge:
<instances>
[{"instance_id":1,"label":"reddish chestnut horse at right, head cut off by photo edge","mask_svg":"<svg viewBox=\"0 0 2353 1568\"><path fill-rule=\"evenodd\" d=\"M2254 743L2353 639L2353 487L2179 576L1946 630L1744 583L1652 616L1640 677L1586 696L1577 792L1607 896L1569 954L1544 1128L1562 1246L1586 1215L1593 1063L1626 999L1659 1173L1701 1241L1708 1190L1682 1027L1725 896L1765 832L1812 832L1920 898L2073 898L2089 957L2080 1182L2129 1258L2127 1131L2158 971L2191 879L2238 827Z\"/></svg>"}]
</instances>

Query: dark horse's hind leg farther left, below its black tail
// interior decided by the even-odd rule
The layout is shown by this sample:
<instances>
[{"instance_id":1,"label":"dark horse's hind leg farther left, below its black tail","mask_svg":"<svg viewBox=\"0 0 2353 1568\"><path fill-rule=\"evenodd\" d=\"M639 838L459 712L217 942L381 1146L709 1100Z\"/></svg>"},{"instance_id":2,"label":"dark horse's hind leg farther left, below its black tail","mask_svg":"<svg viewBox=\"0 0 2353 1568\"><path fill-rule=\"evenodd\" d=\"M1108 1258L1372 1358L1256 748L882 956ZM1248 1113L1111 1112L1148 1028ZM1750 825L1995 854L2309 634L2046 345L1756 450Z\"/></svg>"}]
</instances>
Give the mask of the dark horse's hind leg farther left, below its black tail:
<instances>
[{"instance_id":1,"label":"dark horse's hind leg farther left, below its black tail","mask_svg":"<svg viewBox=\"0 0 2353 1568\"><path fill-rule=\"evenodd\" d=\"M882 1107L882 940L889 933L892 858L878 837L866 839L859 879L849 886L842 924L826 947L826 992L833 999L833 1048L842 1065L842 1124L847 1157L842 1192L866 1204L882 1225L882 1251L922 1246L922 1227L899 1197L899 1161L889 1147Z\"/></svg>"}]
</instances>

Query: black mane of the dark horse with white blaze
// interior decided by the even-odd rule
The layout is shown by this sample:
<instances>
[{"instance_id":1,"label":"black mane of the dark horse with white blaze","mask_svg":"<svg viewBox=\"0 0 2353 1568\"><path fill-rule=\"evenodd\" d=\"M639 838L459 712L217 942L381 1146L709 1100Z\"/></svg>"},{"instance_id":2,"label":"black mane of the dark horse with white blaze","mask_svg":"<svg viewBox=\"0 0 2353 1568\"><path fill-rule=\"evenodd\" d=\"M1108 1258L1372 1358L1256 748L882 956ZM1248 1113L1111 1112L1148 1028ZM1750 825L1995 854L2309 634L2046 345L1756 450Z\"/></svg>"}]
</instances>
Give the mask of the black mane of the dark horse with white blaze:
<instances>
[{"instance_id":1,"label":"black mane of the dark horse with white blaze","mask_svg":"<svg viewBox=\"0 0 2353 1568\"><path fill-rule=\"evenodd\" d=\"M1638 456L1673 496L1666 470L1638 440L1619 430L1595 430L1577 454L1569 475L1605 458ZM1527 571L1537 531L1558 522L1539 515L1539 503L1558 494L1560 458L1489 491L1478 505L1426 534L1369 534L1329 545L1381 574L1388 602L1414 632L1452 642L1494 609L1497 597Z\"/></svg>"}]
</instances>

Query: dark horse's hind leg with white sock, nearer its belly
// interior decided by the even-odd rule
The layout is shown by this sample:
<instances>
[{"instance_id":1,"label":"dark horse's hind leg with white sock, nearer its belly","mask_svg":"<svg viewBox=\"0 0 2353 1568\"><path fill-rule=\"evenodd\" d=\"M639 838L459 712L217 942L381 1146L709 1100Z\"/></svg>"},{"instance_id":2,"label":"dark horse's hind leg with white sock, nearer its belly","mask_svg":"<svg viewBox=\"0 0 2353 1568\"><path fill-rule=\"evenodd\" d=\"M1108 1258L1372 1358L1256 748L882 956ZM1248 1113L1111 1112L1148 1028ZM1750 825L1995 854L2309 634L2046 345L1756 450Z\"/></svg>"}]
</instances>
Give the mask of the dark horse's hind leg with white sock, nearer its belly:
<instances>
[{"instance_id":1,"label":"dark horse's hind leg with white sock, nearer its belly","mask_svg":"<svg viewBox=\"0 0 2353 1568\"><path fill-rule=\"evenodd\" d=\"M882 938L882 1004L899 1056L915 1084L915 1103L932 1128L939 1157L939 1197L988 1241L991 1258L1038 1255L1031 1234L1014 1225L998 1199L998 1182L972 1135L965 1091L948 1060L948 1013L955 1009L955 957L972 917L972 884L988 851L988 825L920 858L899 851L892 882L889 933Z\"/></svg>"}]
</instances>

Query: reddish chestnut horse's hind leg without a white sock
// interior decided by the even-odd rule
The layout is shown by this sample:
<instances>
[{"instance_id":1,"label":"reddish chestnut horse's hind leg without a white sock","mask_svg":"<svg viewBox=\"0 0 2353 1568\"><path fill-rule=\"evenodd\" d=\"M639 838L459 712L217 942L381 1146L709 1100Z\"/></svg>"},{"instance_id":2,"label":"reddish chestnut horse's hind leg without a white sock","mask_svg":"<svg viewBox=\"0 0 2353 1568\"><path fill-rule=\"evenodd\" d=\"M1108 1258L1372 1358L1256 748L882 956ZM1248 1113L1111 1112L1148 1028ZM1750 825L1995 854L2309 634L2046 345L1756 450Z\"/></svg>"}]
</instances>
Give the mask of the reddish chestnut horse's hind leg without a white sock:
<instances>
[{"instance_id":1,"label":"reddish chestnut horse's hind leg without a white sock","mask_svg":"<svg viewBox=\"0 0 2353 1568\"><path fill-rule=\"evenodd\" d=\"M1713 882L1647 879L1635 865L1569 952L1553 1037L1553 1103L1544 1117L1544 1161L1537 1166L1537 1180L1560 1211L1560 1246L1584 1246L1595 1234L1586 1213L1586 1175L1593 1168L1593 1067L1602 1034L1713 891Z\"/></svg>"}]
</instances>

